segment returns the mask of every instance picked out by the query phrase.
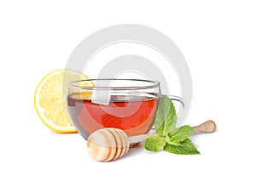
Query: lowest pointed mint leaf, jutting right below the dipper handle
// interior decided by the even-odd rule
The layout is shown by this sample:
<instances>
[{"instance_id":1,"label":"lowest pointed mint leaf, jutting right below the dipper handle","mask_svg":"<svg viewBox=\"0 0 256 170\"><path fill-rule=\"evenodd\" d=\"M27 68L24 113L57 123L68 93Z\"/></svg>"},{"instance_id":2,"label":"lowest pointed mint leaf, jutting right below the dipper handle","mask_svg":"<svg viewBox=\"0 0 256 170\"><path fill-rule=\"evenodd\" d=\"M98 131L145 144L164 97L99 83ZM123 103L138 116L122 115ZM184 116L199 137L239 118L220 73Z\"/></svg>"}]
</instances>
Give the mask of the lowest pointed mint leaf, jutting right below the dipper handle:
<instances>
[{"instance_id":1,"label":"lowest pointed mint leaf, jutting right below the dipper handle","mask_svg":"<svg viewBox=\"0 0 256 170\"><path fill-rule=\"evenodd\" d=\"M192 143L190 139L184 139L180 142L181 145L173 145L166 144L164 146L164 150L178 155L195 155L200 154L198 150L196 150L195 145Z\"/></svg>"}]
</instances>

